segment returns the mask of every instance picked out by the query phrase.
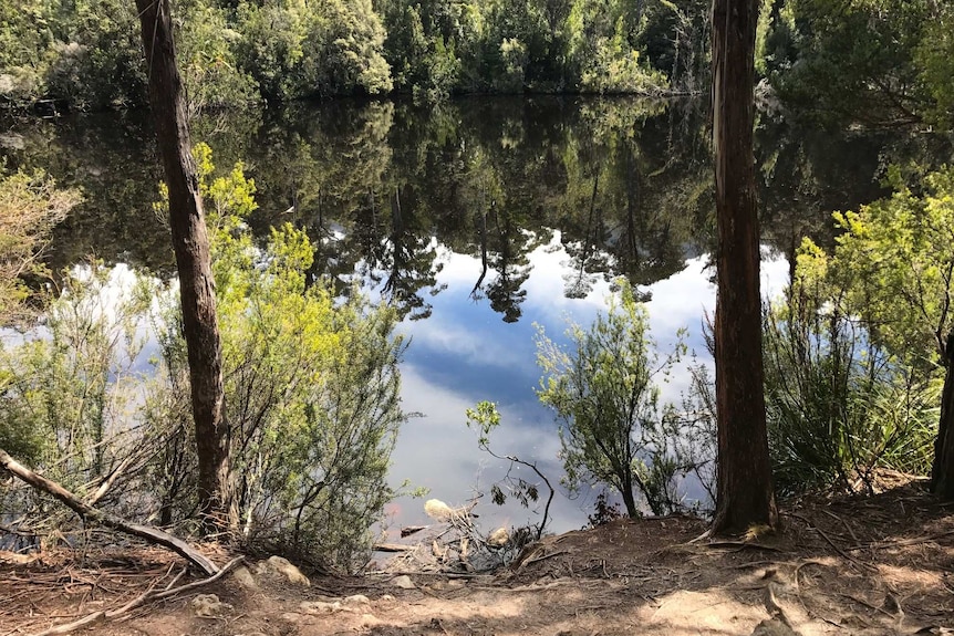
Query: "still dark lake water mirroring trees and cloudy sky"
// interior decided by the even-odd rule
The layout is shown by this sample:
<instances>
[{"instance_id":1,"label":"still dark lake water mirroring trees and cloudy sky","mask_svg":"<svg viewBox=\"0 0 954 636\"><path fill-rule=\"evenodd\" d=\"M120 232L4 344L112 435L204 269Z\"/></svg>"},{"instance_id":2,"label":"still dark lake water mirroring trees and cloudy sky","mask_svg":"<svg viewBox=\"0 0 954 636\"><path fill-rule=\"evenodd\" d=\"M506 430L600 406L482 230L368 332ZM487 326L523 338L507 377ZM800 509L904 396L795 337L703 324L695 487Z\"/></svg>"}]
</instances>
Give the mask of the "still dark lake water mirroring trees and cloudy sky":
<instances>
[{"instance_id":1,"label":"still dark lake water mirroring trees and cloudy sky","mask_svg":"<svg viewBox=\"0 0 954 636\"><path fill-rule=\"evenodd\" d=\"M419 414L403 428L391 481L463 504L487 493L507 466L481 453L465 409L488 399L502 426L501 455L536 461L557 484L562 468L552 415L537 400L535 323L554 340L567 321L589 324L624 275L649 301L653 336L678 329L703 359L702 323L714 306L708 253L713 187L705 106L634 100L470 98L436 108L335 102L281 111L208 114L194 140L215 161L242 160L258 187L259 232L305 228L314 274L342 289L362 282L394 302L411 336L403 402ZM41 167L85 202L58 228L51 263L95 254L168 275L172 251L151 204L159 180L144 114L15 123L0 134L10 167ZM830 212L880 196L879 170L920 157L923 139L833 135L759 123L760 205L767 294L788 275L805 234L830 240ZM687 387L675 373L663 400ZM530 476L527 476L530 477ZM699 498L687 484L687 496ZM558 493L550 529L587 522L593 493ZM388 509L397 528L426 522L423 501ZM539 521L532 511L476 512L486 530Z\"/></svg>"}]
</instances>

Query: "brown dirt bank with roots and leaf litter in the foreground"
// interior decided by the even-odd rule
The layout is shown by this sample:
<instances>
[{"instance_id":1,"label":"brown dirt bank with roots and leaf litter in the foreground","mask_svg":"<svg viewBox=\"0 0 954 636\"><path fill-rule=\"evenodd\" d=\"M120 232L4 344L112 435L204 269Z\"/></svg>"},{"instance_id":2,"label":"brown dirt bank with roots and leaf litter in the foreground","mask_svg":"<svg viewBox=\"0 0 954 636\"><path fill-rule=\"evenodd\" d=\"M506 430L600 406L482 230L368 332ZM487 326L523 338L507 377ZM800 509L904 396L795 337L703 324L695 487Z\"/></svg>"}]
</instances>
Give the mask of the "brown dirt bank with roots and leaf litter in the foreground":
<instances>
[{"instance_id":1,"label":"brown dirt bank with roots and leaf litter in the foreground","mask_svg":"<svg viewBox=\"0 0 954 636\"><path fill-rule=\"evenodd\" d=\"M229 573L75 633L954 634L954 508L932 500L923 484L785 510L779 533L696 543L689 541L705 530L697 519L619 520L547 538L494 575L391 571L313 576L304 586ZM157 549L11 560L0 559L0 636L115 612L151 587L169 586L183 569ZM255 564L248 571L257 572Z\"/></svg>"}]
</instances>

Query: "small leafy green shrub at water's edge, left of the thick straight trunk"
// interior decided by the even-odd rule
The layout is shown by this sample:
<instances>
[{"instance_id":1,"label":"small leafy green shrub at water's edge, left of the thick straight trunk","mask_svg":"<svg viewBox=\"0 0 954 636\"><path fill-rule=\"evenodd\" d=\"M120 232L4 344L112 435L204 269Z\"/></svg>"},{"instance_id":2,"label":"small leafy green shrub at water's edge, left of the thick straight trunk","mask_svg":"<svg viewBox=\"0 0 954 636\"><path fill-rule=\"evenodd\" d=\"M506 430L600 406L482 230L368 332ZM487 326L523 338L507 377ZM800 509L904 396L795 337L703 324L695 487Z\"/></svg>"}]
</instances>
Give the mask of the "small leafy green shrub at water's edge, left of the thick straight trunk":
<instances>
[{"instance_id":1,"label":"small leafy green shrub at water's edge, left of the thick straight trunk","mask_svg":"<svg viewBox=\"0 0 954 636\"><path fill-rule=\"evenodd\" d=\"M650 337L645 309L623 282L589 330L572 325L571 351L537 336L543 371L538 396L560 421L566 483L606 483L623 497L630 517L640 514L636 494L654 514L681 507L676 478L692 470L680 452L683 424L672 407L659 406L657 379L685 354L682 334L661 355Z\"/></svg>"}]
</instances>

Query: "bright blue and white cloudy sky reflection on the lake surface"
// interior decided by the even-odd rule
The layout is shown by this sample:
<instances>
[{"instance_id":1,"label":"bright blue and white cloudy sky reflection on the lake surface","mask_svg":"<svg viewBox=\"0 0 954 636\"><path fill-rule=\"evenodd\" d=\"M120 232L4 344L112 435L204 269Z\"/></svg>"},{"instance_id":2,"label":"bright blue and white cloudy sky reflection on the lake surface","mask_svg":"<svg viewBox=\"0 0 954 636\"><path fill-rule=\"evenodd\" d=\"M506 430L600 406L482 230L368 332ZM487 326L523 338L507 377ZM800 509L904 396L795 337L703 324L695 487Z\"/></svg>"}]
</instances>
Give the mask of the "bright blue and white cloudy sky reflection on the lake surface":
<instances>
[{"instance_id":1,"label":"bright blue and white cloudy sky reflection on the lake surface","mask_svg":"<svg viewBox=\"0 0 954 636\"><path fill-rule=\"evenodd\" d=\"M558 487L562 467L557 423L551 411L537 399L540 372L536 365L533 323L541 324L549 337L566 342L567 321L588 325L598 311L604 310L610 285L593 284L582 299L564 296L563 274L567 254L557 233L549 246L530 254L532 271L523 284L527 298L519 322L506 323L487 300L475 301L470 291L480 275L478 258L445 252L444 269L437 283L444 291L429 299L433 314L423 321L405 321L400 330L409 336L411 345L402 366L404 407L423 417L414 418L402 429L392 456L391 481L400 486L405 479L415 487L429 489L428 498L450 505L464 504L475 492L488 492L502 478L507 462L481 452L477 434L466 426L465 409L487 399L496 402L501 426L491 436L491 447L499 455L517 455L536 461ZM712 271L705 269L707 257L686 261L686 267L670 279L650 288L650 323L653 337L663 351L668 350L680 329L688 330L687 343L699 359L711 363L702 338L705 312L715 307ZM788 272L781 258L763 261L763 293L780 292ZM488 272L488 280L496 275ZM688 386L688 374L676 368L671 382L662 387L662 400L677 402ZM526 468L530 480L536 476ZM521 473L522 475L522 473ZM542 493L541 493L542 494ZM550 530L562 532L587 523L595 493L575 500L558 487L551 509ZM388 509L391 529L428 522L423 500L401 498ZM475 509L480 526L490 531L499 525L520 525L539 521L539 515L508 502L498 508L486 494ZM542 512L542 502L538 512Z\"/></svg>"}]
</instances>

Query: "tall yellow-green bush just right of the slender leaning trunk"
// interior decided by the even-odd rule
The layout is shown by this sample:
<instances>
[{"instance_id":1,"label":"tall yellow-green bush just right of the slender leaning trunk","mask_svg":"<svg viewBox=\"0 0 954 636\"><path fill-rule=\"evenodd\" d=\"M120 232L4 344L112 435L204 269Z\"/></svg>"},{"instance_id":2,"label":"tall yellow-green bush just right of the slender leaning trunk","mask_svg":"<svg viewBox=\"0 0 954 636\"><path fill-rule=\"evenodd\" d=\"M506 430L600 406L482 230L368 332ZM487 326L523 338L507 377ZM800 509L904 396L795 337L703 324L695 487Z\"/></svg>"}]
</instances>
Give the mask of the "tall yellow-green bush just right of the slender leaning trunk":
<instances>
[{"instance_id":1,"label":"tall yellow-green bush just right of the slender leaning trunk","mask_svg":"<svg viewBox=\"0 0 954 636\"><path fill-rule=\"evenodd\" d=\"M339 302L325 282L310 280L313 248L290 225L257 248L243 220L256 207L255 184L240 165L215 177L206 146L196 147L196 158L212 228L242 534L253 545L357 570L367 560L369 529L393 497L388 457L406 419L397 312L370 306L356 290ZM166 363L175 378L186 361L178 326L169 326Z\"/></svg>"}]
</instances>

